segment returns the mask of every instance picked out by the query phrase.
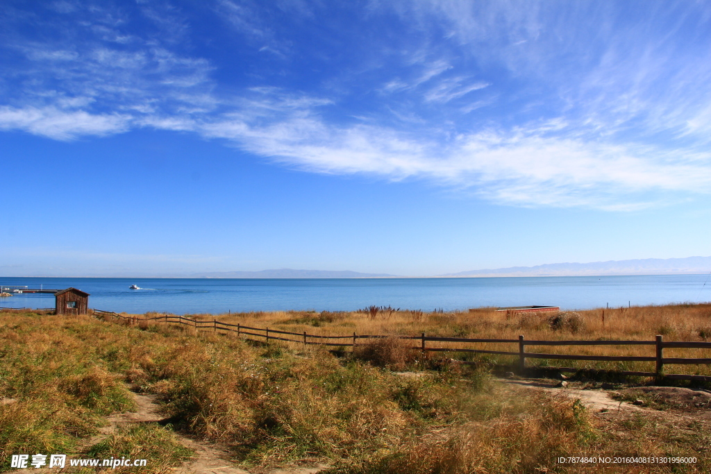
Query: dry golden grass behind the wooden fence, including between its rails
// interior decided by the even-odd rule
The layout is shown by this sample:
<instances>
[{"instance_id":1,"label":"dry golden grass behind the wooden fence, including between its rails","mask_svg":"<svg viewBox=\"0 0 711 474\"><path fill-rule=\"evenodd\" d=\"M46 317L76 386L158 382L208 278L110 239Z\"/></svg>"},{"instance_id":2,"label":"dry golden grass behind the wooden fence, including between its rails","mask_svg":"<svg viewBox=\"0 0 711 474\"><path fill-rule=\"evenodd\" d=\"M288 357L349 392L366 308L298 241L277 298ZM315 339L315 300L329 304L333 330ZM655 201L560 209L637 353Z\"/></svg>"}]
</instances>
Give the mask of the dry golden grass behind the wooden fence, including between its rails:
<instances>
[{"instance_id":1,"label":"dry golden grass behind the wooden fence, including between its rails","mask_svg":"<svg viewBox=\"0 0 711 474\"><path fill-rule=\"evenodd\" d=\"M367 308L370 310L370 308ZM158 316L146 315L146 316ZM670 341L711 340L711 304L634 306L632 308L594 309L565 313L506 313L496 308L476 311L424 313L422 311L328 312L274 311L270 313L232 313L192 315L202 321L213 318L225 323L272 328L315 335L420 335L459 338L512 339L524 335L527 340L654 340L663 335ZM558 321L556 321L558 318ZM344 343L351 340L344 339ZM360 340L359 340L360 342ZM419 341L412 341L418 345ZM434 343L430 348L470 348L517 352L516 343ZM603 346L527 346L527 352L576 355L655 355L650 345ZM665 349L665 357L711 357L707 349ZM471 357L463 353L453 357L482 360L492 365L514 365L515 357L488 355ZM654 362L594 362L528 359L535 367L552 365L593 370L632 370L653 372ZM669 374L711 375L708 365L665 365Z\"/></svg>"}]
</instances>

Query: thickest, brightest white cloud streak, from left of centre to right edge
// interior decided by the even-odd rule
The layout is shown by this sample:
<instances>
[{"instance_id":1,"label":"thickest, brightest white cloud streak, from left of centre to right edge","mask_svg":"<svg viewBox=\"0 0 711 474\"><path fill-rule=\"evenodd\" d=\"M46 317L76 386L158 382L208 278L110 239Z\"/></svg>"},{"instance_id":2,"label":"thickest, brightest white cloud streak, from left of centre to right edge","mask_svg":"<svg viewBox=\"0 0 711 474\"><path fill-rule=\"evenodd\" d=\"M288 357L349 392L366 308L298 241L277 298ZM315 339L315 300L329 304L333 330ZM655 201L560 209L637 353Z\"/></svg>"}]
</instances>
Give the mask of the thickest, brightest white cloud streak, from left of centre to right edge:
<instances>
[{"instance_id":1,"label":"thickest, brightest white cloud streak, from left of centre to right edge","mask_svg":"<svg viewBox=\"0 0 711 474\"><path fill-rule=\"evenodd\" d=\"M629 210L660 199L647 193L711 190L711 153L551 135L567 127L557 120L442 144L382 126L329 126L301 110L267 125L237 114L199 130L307 171L434 180L513 205Z\"/></svg>"}]
</instances>

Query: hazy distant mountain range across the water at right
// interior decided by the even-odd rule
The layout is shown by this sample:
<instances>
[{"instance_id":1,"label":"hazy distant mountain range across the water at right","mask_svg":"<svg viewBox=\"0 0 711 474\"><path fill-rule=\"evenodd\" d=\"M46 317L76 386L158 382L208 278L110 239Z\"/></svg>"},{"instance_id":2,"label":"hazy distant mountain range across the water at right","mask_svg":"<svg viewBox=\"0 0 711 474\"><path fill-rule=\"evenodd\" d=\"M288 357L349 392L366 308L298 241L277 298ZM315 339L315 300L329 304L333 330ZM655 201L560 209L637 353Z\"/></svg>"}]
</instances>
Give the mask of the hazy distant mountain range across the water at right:
<instances>
[{"instance_id":1,"label":"hazy distant mountain range across the water at right","mask_svg":"<svg viewBox=\"0 0 711 474\"><path fill-rule=\"evenodd\" d=\"M592 276L704 274L711 271L711 257L685 259L610 260L588 264L563 263L510 266L503 269L460 271L439 276Z\"/></svg>"}]
</instances>

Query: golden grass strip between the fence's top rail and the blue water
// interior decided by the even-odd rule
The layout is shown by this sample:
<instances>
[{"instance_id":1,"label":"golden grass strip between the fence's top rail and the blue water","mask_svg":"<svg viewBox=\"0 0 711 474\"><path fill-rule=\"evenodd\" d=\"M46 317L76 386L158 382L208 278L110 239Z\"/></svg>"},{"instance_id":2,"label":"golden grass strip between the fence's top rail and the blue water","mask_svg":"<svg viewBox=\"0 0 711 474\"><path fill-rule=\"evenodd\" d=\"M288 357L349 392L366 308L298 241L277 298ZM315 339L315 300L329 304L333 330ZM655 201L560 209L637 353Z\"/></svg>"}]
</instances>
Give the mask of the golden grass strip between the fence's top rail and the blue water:
<instances>
[{"instance_id":1,"label":"golden grass strip between the fence's top rail and the blue water","mask_svg":"<svg viewBox=\"0 0 711 474\"><path fill-rule=\"evenodd\" d=\"M423 313L422 311L369 312L274 311L257 313L198 314L191 317L226 323L323 335L409 334L456 335L472 338L668 340L711 338L711 304L633 306L632 308L577 311L582 324L577 331L551 328L552 313L506 313L492 309L471 312ZM604 313L604 317L603 317ZM146 316L159 316L147 313ZM186 315L188 316L188 315ZM318 328L318 330L314 330Z\"/></svg>"}]
</instances>

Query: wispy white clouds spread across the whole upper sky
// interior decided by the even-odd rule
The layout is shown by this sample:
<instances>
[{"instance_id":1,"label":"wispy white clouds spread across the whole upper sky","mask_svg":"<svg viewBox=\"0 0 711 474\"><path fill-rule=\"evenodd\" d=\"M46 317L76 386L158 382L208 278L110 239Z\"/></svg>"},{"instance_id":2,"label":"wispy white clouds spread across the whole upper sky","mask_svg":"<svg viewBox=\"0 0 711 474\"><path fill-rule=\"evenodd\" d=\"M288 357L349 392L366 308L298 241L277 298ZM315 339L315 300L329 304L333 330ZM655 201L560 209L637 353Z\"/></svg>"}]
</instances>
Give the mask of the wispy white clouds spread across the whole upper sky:
<instances>
[{"instance_id":1,"label":"wispy white clouds spread across the whole upper sky","mask_svg":"<svg viewBox=\"0 0 711 474\"><path fill-rule=\"evenodd\" d=\"M632 210L707 195L711 50L703 32L711 28L709 16L693 12L709 9L671 12L673 21L637 12L623 28L612 6L526 5L371 6L370 15L395 9L417 38L412 47L388 55L391 68L365 58L377 66L362 70L383 73L363 87L365 75L319 76L328 87L309 92L283 84L281 63L244 85L220 83L215 72L232 65L188 53L181 41L191 28L176 9L163 17L141 4L143 20L156 24L151 35L129 28L120 9L96 9L72 25L83 41L67 25L52 41L6 36L4 50L21 60L1 82L0 129L62 140L138 127L191 131L304 171L427 180L510 205ZM53 9L78 11L69 2ZM255 51L296 48L277 39L255 3L220 0L210 9ZM299 11L299 21L313 16L299 2L284 9ZM164 33L171 25L176 33ZM663 35L645 33L653 26ZM378 99L365 104L369 93Z\"/></svg>"}]
</instances>

